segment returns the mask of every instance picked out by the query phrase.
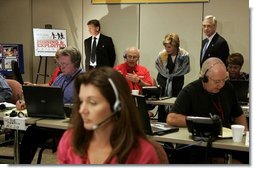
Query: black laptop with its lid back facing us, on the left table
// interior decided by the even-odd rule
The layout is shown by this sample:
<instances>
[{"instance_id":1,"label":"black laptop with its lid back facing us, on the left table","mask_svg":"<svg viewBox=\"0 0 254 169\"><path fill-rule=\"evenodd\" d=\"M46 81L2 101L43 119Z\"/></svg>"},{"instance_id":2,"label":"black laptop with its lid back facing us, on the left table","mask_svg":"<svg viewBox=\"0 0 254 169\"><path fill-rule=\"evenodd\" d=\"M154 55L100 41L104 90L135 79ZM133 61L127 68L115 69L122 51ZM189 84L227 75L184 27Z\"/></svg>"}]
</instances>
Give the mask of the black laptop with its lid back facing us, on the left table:
<instances>
[{"instance_id":1,"label":"black laptop with its lid back facing us, on the left table","mask_svg":"<svg viewBox=\"0 0 254 169\"><path fill-rule=\"evenodd\" d=\"M61 88L23 86L23 93L28 117L65 118Z\"/></svg>"}]
</instances>

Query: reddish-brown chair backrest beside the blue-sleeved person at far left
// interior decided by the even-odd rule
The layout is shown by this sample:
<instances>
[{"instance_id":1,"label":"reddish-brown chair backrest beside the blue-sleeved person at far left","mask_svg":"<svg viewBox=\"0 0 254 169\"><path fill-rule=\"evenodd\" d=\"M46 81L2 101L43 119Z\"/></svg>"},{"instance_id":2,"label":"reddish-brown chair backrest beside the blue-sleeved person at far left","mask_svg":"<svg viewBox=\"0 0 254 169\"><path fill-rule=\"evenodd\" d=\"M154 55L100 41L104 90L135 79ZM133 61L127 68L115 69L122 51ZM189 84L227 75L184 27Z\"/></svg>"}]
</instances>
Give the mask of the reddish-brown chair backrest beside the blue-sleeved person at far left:
<instances>
[{"instance_id":1,"label":"reddish-brown chair backrest beside the blue-sleeved person at far left","mask_svg":"<svg viewBox=\"0 0 254 169\"><path fill-rule=\"evenodd\" d=\"M23 95L22 85L13 79L6 79L8 85L12 90L12 97L8 102L16 104L16 102L20 99L19 97Z\"/></svg>"}]
</instances>

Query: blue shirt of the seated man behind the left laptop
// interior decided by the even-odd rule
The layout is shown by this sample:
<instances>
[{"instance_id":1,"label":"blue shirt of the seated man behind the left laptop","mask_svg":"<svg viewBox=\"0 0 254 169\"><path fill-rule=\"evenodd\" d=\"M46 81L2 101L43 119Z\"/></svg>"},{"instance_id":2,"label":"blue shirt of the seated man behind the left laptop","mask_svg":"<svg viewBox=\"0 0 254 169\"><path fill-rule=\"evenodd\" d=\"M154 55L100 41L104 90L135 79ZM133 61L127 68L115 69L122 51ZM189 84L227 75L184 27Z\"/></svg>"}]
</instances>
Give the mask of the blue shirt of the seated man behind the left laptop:
<instances>
[{"instance_id":1,"label":"blue shirt of the seated man behind the left laptop","mask_svg":"<svg viewBox=\"0 0 254 169\"><path fill-rule=\"evenodd\" d=\"M51 85L62 88L64 104L73 103L74 79L81 72L83 72L82 68L77 69L77 71L75 71L72 75L64 75L63 73L61 73L60 75L57 76L56 80Z\"/></svg>"}]
</instances>

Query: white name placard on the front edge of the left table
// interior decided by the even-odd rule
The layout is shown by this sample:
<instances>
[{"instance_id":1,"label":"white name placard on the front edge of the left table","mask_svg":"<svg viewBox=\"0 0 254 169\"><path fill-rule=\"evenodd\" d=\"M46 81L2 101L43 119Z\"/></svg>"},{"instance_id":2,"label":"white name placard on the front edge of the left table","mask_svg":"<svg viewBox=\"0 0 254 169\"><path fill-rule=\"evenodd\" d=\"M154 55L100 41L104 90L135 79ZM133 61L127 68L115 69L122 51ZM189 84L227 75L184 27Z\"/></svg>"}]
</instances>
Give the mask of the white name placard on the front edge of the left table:
<instances>
[{"instance_id":1,"label":"white name placard on the front edge of the left table","mask_svg":"<svg viewBox=\"0 0 254 169\"><path fill-rule=\"evenodd\" d=\"M4 128L14 130L26 130L26 118L4 117Z\"/></svg>"}]
</instances>

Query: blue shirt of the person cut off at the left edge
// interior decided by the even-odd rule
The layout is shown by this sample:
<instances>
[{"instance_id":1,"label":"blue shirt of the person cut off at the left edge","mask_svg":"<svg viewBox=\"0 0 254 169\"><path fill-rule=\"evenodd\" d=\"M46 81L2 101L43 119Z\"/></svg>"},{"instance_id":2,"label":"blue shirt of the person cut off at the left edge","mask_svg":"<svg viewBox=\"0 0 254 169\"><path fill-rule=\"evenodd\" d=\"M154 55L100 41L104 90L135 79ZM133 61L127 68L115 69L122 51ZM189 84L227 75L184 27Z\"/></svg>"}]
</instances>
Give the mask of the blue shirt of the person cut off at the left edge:
<instances>
[{"instance_id":1,"label":"blue shirt of the person cut off at the left edge","mask_svg":"<svg viewBox=\"0 0 254 169\"><path fill-rule=\"evenodd\" d=\"M12 96L12 90L6 79L0 74L0 102L8 101Z\"/></svg>"}]
</instances>

